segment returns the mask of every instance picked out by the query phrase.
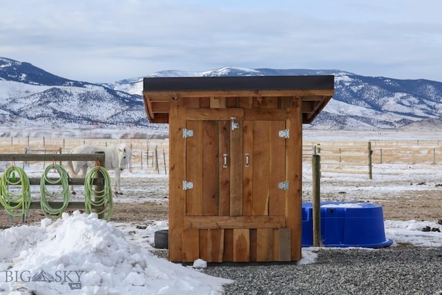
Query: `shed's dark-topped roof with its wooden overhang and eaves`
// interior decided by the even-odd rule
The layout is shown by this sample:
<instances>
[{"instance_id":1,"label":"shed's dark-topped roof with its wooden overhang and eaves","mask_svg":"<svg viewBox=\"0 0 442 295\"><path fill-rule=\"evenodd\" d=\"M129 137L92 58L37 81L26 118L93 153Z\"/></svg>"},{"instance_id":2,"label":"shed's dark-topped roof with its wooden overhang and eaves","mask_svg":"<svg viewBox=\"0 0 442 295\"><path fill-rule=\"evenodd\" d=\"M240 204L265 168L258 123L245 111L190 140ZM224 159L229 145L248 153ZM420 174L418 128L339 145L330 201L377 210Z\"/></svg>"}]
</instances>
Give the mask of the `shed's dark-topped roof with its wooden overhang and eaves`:
<instances>
[{"instance_id":1,"label":"shed's dark-topped roof with its wooden overhang and eaves","mask_svg":"<svg viewBox=\"0 0 442 295\"><path fill-rule=\"evenodd\" d=\"M333 75L146 77L144 107L151 123L169 123L171 99L186 97L299 97L302 123L311 123L334 95Z\"/></svg>"}]
</instances>

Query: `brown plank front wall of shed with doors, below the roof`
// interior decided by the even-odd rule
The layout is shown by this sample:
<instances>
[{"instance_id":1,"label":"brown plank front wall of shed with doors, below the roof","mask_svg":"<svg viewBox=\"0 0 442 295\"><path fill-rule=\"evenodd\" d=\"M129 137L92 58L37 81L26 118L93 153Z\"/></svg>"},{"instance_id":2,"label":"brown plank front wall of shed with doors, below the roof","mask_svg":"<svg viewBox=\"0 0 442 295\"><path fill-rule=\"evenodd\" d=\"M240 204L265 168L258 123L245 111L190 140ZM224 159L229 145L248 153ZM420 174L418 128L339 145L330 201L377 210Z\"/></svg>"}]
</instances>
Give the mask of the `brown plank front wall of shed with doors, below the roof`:
<instances>
[{"instance_id":1,"label":"brown plank front wall of shed with doors, below the roof","mask_svg":"<svg viewBox=\"0 0 442 295\"><path fill-rule=\"evenodd\" d=\"M229 108L229 100L244 107ZM278 107L281 102L289 107ZM300 259L300 110L296 97L171 101L170 260ZM236 131L231 131L231 117ZM183 129L194 135L184 138ZM285 129L287 139L278 135ZM184 191L183 180L193 182L193 188ZM287 191L278 189L279 182L289 183Z\"/></svg>"}]
</instances>

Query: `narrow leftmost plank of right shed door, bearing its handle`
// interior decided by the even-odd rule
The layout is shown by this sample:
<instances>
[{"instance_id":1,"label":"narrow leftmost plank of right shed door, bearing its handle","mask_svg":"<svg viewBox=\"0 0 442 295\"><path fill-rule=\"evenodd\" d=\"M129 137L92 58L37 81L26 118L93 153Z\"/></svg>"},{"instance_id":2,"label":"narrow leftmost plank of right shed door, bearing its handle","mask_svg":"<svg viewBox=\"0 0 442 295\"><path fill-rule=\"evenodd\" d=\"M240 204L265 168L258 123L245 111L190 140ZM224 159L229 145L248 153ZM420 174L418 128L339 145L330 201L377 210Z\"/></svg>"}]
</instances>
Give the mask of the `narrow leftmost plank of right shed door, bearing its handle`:
<instances>
[{"instance_id":1,"label":"narrow leftmost plank of right shed door, bearing its handle","mask_svg":"<svg viewBox=\"0 0 442 295\"><path fill-rule=\"evenodd\" d=\"M249 166L246 166L246 153L249 154ZM244 121L242 127L242 215L253 214L253 122Z\"/></svg>"}]
</instances>

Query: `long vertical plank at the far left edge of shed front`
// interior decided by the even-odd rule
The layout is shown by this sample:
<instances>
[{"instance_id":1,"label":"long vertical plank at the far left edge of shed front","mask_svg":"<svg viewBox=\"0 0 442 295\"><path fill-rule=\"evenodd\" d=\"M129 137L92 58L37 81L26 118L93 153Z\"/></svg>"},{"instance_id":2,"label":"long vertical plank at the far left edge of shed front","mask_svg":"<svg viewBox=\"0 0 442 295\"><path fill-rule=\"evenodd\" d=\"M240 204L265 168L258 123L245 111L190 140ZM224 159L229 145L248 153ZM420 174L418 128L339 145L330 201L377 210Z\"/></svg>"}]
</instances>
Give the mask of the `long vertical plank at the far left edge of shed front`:
<instances>
[{"instance_id":1,"label":"long vertical plank at the far left edge of shed front","mask_svg":"<svg viewBox=\"0 0 442 295\"><path fill-rule=\"evenodd\" d=\"M184 99L171 99L169 111L169 260L182 261L182 230L186 215L186 192L182 181L186 178L186 141L182 129L186 127Z\"/></svg>"}]
</instances>

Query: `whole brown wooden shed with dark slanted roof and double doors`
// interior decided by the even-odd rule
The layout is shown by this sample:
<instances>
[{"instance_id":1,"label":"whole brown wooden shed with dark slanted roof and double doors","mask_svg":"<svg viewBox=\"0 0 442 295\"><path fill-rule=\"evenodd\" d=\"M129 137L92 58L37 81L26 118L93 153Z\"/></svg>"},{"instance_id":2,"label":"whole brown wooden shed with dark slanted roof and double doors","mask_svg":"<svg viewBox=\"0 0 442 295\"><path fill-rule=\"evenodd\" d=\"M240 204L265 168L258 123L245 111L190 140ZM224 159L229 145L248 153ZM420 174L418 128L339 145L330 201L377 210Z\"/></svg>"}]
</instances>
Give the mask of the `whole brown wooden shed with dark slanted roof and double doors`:
<instances>
[{"instance_id":1,"label":"whole brown wooden shed with dark slanted roof and double doors","mask_svg":"<svg viewBox=\"0 0 442 295\"><path fill-rule=\"evenodd\" d=\"M301 258L302 124L334 76L146 77L169 124L169 260Z\"/></svg>"}]
</instances>

